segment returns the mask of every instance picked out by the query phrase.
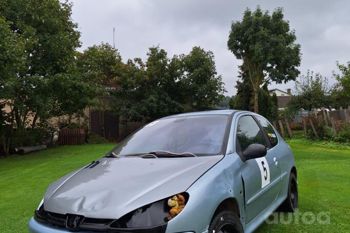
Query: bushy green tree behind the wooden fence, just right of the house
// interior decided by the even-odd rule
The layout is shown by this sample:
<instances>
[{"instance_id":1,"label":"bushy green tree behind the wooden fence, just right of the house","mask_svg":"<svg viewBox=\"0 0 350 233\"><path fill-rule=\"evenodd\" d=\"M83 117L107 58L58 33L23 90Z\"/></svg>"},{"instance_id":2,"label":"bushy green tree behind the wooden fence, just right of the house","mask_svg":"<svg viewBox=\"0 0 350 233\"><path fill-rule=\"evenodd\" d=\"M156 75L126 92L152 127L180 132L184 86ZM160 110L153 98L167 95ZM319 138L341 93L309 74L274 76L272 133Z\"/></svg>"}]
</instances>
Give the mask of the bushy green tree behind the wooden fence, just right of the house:
<instances>
[{"instance_id":1,"label":"bushy green tree behind the wooden fence, just right of the house","mask_svg":"<svg viewBox=\"0 0 350 233\"><path fill-rule=\"evenodd\" d=\"M299 109L313 110L328 106L328 79L319 73L307 71L295 84L295 95L288 103L289 112L298 112Z\"/></svg>"}]
</instances>

